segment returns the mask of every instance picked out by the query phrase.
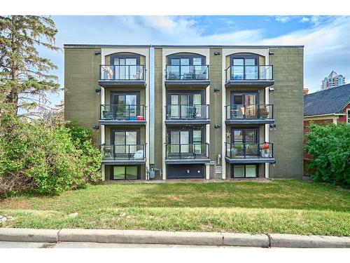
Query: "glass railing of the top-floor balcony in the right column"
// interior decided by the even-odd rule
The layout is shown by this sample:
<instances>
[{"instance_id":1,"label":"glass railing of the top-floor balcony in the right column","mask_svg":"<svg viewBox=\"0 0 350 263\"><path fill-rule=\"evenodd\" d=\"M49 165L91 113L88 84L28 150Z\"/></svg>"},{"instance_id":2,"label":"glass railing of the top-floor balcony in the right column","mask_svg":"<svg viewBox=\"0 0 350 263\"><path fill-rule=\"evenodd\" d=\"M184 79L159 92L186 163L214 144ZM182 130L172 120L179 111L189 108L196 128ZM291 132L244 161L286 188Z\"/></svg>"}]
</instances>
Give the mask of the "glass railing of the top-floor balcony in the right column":
<instances>
[{"instance_id":1,"label":"glass railing of the top-floor balcony in the right column","mask_svg":"<svg viewBox=\"0 0 350 263\"><path fill-rule=\"evenodd\" d=\"M274 79L273 66L234 66L226 69L226 82L228 81L271 81Z\"/></svg>"}]
</instances>

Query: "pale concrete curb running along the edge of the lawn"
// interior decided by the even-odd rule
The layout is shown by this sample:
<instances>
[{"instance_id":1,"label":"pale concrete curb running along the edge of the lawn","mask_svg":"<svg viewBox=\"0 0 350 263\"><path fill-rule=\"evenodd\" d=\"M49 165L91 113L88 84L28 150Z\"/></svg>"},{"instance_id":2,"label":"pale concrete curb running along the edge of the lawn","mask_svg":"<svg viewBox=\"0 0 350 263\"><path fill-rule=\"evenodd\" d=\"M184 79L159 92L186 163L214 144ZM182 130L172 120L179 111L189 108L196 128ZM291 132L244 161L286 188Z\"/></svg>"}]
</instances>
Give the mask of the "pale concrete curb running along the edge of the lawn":
<instances>
[{"instance_id":1,"label":"pale concrete curb running along the edge of the lawn","mask_svg":"<svg viewBox=\"0 0 350 263\"><path fill-rule=\"evenodd\" d=\"M216 245L258 248L350 248L350 237L114 229L0 228L0 241Z\"/></svg>"}]
</instances>

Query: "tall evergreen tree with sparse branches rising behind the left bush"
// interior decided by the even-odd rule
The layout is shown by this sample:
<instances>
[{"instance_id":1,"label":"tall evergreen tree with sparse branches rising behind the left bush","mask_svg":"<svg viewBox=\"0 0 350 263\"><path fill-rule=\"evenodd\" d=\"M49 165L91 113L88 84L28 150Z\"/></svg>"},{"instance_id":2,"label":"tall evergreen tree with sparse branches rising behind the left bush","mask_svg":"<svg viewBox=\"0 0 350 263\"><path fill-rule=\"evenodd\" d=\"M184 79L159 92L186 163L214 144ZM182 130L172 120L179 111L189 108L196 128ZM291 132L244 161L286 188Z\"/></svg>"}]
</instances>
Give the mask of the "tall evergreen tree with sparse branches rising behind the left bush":
<instances>
[{"instance_id":1,"label":"tall evergreen tree with sparse branches rising behind the left bush","mask_svg":"<svg viewBox=\"0 0 350 263\"><path fill-rule=\"evenodd\" d=\"M0 16L0 100L12 104L13 114L40 116L48 108L46 93L59 90L57 76L50 74L57 66L37 50L60 50L56 34L47 16Z\"/></svg>"}]
</instances>

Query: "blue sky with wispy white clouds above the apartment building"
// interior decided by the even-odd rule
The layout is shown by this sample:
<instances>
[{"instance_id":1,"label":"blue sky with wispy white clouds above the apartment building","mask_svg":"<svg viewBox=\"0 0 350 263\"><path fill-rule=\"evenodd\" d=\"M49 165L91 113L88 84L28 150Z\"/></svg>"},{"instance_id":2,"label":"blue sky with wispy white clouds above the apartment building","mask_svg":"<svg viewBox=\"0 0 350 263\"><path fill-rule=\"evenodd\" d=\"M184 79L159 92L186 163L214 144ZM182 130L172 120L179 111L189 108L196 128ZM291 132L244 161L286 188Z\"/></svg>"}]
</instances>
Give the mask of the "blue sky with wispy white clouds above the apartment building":
<instances>
[{"instance_id":1,"label":"blue sky with wispy white clouds above the apartment building","mask_svg":"<svg viewBox=\"0 0 350 263\"><path fill-rule=\"evenodd\" d=\"M350 16L52 16L56 53L40 48L64 88L63 44L303 45L304 87L320 89L332 69L350 80ZM49 95L52 104L63 93Z\"/></svg>"}]
</instances>

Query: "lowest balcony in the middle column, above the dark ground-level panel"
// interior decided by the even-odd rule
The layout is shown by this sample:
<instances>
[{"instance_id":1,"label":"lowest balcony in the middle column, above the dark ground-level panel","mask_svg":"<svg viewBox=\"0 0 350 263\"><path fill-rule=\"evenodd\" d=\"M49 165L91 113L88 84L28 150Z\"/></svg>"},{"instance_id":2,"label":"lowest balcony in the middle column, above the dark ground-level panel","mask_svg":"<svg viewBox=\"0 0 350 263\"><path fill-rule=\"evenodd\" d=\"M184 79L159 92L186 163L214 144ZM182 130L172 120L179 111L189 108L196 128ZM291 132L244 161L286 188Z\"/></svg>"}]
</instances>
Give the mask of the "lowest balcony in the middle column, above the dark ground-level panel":
<instances>
[{"instance_id":1,"label":"lowest balcony in the middle column, above the dark ground-level panel","mask_svg":"<svg viewBox=\"0 0 350 263\"><path fill-rule=\"evenodd\" d=\"M165 163L209 163L209 143L165 144Z\"/></svg>"}]
</instances>

